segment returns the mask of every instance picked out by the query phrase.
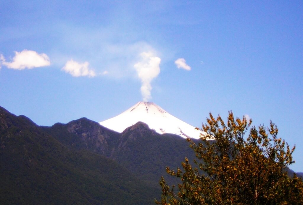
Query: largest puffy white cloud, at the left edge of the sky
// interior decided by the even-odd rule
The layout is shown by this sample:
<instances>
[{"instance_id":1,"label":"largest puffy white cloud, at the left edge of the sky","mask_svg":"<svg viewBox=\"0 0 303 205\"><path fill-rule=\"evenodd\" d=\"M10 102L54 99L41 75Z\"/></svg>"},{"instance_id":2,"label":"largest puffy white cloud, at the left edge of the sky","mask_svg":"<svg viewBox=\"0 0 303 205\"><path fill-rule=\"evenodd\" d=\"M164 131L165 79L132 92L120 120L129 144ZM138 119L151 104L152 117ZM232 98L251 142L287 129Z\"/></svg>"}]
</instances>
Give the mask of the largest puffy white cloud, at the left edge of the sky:
<instances>
[{"instance_id":1,"label":"largest puffy white cloud, at the left edge of the sky","mask_svg":"<svg viewBox=\"0 0 303 205\"><path fill-rule=\"evenodd\" d=\"M2 65L16 70L44 67L51 64L49 57L46 54L38 54L34 50L22 50L21 52L15 51L15 56L13 57L12 62L6 62L3 55L0 55L0 60Z\"/></svg>"}]
</instances>

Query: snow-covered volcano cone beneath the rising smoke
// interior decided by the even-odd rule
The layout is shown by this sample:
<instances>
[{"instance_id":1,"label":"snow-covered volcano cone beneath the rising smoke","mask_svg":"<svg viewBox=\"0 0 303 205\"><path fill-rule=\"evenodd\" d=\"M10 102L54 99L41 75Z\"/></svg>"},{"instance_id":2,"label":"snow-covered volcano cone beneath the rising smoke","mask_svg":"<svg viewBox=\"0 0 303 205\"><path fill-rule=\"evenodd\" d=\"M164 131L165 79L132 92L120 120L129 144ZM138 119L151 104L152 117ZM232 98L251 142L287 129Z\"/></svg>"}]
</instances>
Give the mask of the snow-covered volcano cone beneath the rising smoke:
<instances>
[{"instance_id":1,"label":"snow-covered volcano cone beneath the rising smoke","mask_svg":"<svg viewBox=\"0 0 303 205\"><path fill-rule=\"evenodd\" d=\"M140 121L145 122L150 129L160 134L171 133L196 139L201 134L201 131L172 116L153 102L138 102L120 115L99 123L109 129L123 132Z\"/></svg>"}]
</instances>

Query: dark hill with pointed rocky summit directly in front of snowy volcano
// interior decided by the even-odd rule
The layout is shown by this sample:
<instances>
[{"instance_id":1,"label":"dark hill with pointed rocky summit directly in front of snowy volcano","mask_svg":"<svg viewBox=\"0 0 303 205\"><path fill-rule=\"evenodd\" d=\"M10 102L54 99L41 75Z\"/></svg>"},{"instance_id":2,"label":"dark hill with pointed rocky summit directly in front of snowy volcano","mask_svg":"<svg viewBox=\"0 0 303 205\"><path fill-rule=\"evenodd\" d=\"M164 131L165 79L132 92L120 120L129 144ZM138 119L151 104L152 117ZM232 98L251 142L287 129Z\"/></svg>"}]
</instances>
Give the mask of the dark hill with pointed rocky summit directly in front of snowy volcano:
<instances>
[{"instance_id":1,"label":"dark hill with pointed rocky summit directly in front of snowy volcano","mask_svg":"<svg viewBox=\"0 0 303 205\"><path fill-rule=\"evenodd\" d=\"M159 135L148 128L143 122L138 122L127 128L123 133L113 158L137 176L150 184L158 186L161 176L168 183L175 182L169 178L166 167L181 167L180 161L185 156L194 158L194 153L188 142L176 135Z\"/></svg>"}]
</instances>

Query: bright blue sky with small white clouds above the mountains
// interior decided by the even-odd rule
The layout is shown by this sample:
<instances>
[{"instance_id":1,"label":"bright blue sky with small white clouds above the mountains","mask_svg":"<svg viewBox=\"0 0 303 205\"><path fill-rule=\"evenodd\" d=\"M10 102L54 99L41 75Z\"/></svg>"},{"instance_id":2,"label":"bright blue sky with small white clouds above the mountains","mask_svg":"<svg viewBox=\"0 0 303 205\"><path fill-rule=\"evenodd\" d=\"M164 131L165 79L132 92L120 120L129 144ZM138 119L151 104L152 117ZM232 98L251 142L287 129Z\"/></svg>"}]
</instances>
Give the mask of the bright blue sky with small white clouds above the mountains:
<instances>
[{"instance_id":1,"label":"bright blue sky with small white clouds above the mountains","mask_svg":"<svg viewBox=\"0 0 303 205\"><path fill-rule=\"evenodd\" d=\"M0 1L0 106L38 125L143 99L269 125L303 171L302 1ZM178 63L176 63L178 62ZM178 68L179 67L179 68Z\"/></svg>"}]
</instances>

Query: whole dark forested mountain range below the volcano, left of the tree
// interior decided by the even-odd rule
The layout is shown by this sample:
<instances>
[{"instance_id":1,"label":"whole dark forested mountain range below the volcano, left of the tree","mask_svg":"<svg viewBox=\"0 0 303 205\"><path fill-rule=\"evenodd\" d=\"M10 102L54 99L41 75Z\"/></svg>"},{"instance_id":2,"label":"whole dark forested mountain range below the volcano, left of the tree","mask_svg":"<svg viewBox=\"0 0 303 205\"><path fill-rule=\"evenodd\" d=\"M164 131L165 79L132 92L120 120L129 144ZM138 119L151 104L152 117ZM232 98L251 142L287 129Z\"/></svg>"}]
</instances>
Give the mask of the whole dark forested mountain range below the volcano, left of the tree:
<instances>
[{"instance_id":1,"label":"whole dark forested mountain range below the volcano, left of the tree","mask_svg":"<svg viewBox=\"0 0 303 205\"><path fill-rule=\"evenodd\" d=\"M165 168L195 153L138 122L118 133L87 118L51 127L0 107L2 204L153 204Z\"/></svg>"}]
</instances>

